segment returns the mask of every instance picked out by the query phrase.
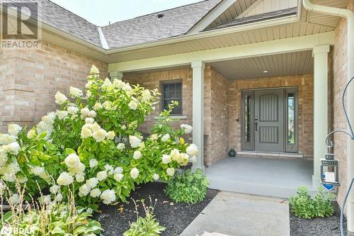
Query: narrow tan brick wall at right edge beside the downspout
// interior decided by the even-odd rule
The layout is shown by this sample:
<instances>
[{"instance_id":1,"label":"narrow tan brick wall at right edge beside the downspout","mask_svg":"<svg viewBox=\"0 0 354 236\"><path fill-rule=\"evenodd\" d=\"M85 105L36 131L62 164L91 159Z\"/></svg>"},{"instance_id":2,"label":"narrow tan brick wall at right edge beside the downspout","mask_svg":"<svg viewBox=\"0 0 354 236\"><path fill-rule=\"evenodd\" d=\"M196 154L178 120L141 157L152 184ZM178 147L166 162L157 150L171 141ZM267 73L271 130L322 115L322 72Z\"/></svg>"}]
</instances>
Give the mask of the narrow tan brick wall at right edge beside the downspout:
<instances>
[{"instance_id":1,"label":"narrow tan brick wall at right edge beside the downspout","mask_svg":"<svg viewBox=\"0 0 354 236\"><path fill-rule=\"evenodd\" d=\"M350 0L348 9L354 11L354 1ZM344 18L341 19L335 31L333 47L333 129L346 130L346 118L341 106L341 99L344 86L346 85L346 59L347 59L347 25ZM341 186L338 188L338 203L342 206L343 198L347 190L347 139L345 135L337 133L334 135L334 153L340 159L339 178Z\"/></svg>"}]
</instances>

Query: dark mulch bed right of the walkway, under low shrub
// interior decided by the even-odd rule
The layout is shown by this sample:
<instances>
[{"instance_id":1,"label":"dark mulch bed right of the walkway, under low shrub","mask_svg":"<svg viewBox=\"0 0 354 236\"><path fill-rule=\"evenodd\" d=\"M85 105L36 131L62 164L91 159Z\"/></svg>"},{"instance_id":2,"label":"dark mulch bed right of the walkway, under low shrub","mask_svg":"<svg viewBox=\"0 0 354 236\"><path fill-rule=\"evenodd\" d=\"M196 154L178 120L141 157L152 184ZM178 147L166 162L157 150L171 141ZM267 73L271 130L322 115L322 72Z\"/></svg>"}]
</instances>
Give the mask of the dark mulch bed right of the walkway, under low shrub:
<instances>
[{"instance_id":1,"label":"dark mulch bed right of the walkway, under low shrub","mask_svg":"<svg viewBox=\"0 0 354 236\"><path fill-rule=\"evenodd\" d=\"M334 213L329 218L314 218L306 220L297 218L290 213L290 235L292 236L336 236L341 235L339 218L341 210L337 203L334 203ZM343 222L346 229L346 218Z\"/></svg>"}]
</instances>

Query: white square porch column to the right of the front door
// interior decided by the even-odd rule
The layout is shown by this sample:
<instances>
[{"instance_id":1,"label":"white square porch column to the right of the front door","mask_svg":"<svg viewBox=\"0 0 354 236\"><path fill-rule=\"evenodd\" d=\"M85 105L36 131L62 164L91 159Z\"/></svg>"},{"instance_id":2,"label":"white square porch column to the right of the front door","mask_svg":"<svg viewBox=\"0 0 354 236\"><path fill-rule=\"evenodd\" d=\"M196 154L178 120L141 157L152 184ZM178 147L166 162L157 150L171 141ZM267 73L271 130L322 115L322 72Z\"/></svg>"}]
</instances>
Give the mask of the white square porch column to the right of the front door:
<instances>
[{"instance_id":1,"label":"white square porch column to the right of the front door","mask_svg":"<svg viewBox=\"0 0 354 236\"><path fill-rule=\"evenodd\" d=\"M314 46L314 175L312 182L321 181L321 158L327 152L325 139L328 134L328 53L329 45Z\"/></svg>"}]
</instances>

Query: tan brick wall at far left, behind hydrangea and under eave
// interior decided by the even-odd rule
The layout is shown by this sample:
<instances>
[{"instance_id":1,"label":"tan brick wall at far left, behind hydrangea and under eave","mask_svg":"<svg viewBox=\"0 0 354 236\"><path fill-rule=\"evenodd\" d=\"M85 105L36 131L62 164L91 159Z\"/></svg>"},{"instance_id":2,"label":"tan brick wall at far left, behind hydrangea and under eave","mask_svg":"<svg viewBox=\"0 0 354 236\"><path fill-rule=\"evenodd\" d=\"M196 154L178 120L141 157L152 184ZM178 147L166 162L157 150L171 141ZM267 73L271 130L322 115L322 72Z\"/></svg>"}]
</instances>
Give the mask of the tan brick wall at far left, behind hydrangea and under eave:
<instances>
[{"instance_id":1,"label":"tan brick wall at far left, behind hydrangea and under eave","mask_svg":"<svg viewBox=\"0 0 354 236\"><path fill-rule=\"evenodd\" d=\"M0 50L0 59L0 132L8 123L38 123L55 110L57 90L84 88L92 64L108 76L108 64L45 42L36 50Z\"/></svg>"}]
</instances>

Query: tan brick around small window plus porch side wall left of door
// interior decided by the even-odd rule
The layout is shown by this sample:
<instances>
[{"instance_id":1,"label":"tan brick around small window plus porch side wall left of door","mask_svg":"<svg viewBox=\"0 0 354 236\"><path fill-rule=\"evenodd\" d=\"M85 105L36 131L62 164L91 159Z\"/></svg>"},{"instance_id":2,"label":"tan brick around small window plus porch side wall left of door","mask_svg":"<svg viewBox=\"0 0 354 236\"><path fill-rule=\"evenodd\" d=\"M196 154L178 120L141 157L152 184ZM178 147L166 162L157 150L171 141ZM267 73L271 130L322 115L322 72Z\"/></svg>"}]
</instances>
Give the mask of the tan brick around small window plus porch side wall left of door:
<instances>
[{"instance_id":1,"label":"tan brick around small window plus porch side wall left of door","mask_svg":"<svg viewBox=\"0 0 354 236\"><path fill-rule=\"evenodd\" d=\"M182 111L185 118L173 122L173 128L178 128L182 123L192 125L193 115L193 70L191 68L169 69L159 72L125 73L123 80L131 84L139 84L147 89L160 89L161 83L169 80L181 79L183 86ZM205 164L210 165L218 159L227 157L227 80L210 66L205 68L205 134L209 135L205 142ZM156 111L145 118L145 123L140 127L142 132L149 133L155 123L154 116L161 111L161 104L156 106Z\"/></svg>"}]
</instances>

